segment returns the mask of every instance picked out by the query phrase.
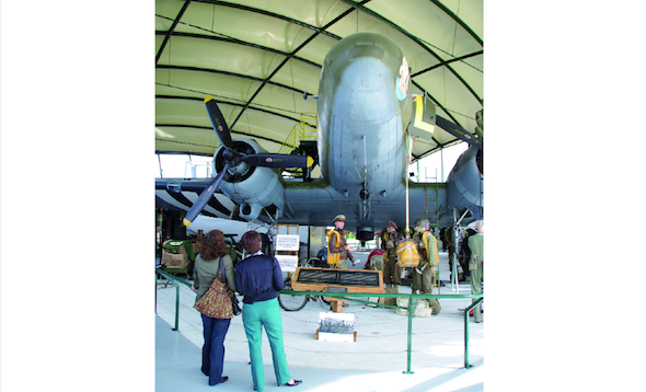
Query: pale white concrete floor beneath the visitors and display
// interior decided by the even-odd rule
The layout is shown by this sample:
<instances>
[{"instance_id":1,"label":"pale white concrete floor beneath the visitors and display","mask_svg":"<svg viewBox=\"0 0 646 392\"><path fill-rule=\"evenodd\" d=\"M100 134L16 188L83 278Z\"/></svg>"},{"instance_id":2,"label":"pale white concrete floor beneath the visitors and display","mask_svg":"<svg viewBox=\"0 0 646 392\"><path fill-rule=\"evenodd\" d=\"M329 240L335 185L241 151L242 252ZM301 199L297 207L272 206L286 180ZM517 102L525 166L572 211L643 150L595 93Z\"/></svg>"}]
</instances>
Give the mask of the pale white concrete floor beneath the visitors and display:
<instances>
[{"instance_id":1,"label":"pale white concrete floor beneath the visitors and display","mask_svg":"<svg viewBox=\"0 0 646 392\"><path fill-rule=\"evenodd\" d=\"M355 251L362 268L369 252ZM440 252L440 279L449 280L447 253ZM411 292L401 286L400 292ZM470 293L461 285L461 295ZM442 295L457 295L450 285ZM195 293L181 285L178 332L175 324L173 286L158 286L157 303L157 391L199 390L209 388L201 374L201 319L192 307ZM482 391L484 389L484 324L470 318L470 369L464 368L464 318L460 308L470 299L440 299L437 316L413 318L411 371L407 370L408 318L394 309L370 308L349 302L343 313L354 314L357 341L323 342L314 338L319 318L330 312L320 301L308 301L300 311L282 311L282 331L291 376L303 380L299 390L330 391ZM252 391L249 346L242 318L232 320L224 341L227 383L216 388L226 391ZM263 336L266 389L277 388L268 341Z\"/></svg>"}]
</instances>

